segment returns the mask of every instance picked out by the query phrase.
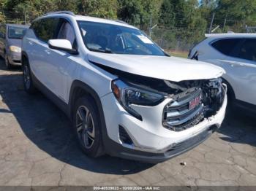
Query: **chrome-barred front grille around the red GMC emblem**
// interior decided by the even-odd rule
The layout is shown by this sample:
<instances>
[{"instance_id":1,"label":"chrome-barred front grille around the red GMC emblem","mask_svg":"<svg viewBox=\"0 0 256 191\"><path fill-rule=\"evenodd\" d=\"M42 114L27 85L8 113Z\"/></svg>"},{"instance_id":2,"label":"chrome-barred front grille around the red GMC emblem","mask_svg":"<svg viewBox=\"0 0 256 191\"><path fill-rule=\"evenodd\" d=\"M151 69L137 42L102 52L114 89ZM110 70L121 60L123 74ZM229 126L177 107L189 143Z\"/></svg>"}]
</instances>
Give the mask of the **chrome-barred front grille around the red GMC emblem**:
<instances>
[{"instance_id":1,"label":"chrome-barred front grille around the red GMC emblem","mask_svg":"<svg viewBox=\"0 0 256 191\"><path fill-rule=\"evenodd\" d=\"M162 124L165 128L174 131L181 131L199 123L203 120L202 90L197 88L191 93L181 95L165 106ZM191 107L191 101L200 98L195 107ZM190 107L190 108L189 108Z\"/></svg>"}]
</instances>

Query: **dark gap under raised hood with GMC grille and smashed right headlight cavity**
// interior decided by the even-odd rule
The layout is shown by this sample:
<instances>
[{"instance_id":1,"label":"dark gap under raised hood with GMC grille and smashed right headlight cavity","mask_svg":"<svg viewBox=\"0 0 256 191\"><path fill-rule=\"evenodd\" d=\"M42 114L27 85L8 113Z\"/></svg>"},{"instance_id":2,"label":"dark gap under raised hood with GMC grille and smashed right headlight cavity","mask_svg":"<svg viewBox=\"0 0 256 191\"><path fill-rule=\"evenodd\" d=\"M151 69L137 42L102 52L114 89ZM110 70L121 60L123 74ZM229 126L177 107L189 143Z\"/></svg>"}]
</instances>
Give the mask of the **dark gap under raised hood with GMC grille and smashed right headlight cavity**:
<instances>
[{"instance_id":1,"label":"dark gap under raised hood with GMC grille and smashed right headlight cavity","mask_svg":"<svg viewBox=\"0 0 256 191\"><path fill-rule=\"evenodd\" d=\"M165 98L171 98L163 110L162 125L173 131L192 128L205 118L215 115L225 98L226 87L221 78L170 82L132 76L123 80L157 90L164 93Z\"/></svg>"}]
</instances>

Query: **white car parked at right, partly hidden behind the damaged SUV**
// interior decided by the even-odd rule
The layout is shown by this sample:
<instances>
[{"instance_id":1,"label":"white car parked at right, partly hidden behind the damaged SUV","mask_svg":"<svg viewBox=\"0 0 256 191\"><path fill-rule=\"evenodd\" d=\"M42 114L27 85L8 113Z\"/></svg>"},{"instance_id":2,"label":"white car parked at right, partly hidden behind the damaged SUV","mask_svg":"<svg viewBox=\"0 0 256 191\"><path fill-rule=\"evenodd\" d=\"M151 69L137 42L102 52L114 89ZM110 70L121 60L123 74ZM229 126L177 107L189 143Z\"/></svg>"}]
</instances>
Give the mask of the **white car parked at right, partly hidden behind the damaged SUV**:
<instances>
[{"instance_id":1,"label":"white car parked at right, partly hidden behind the damaged SUV","mask_svg":"<svg viewBox=\"0 0 256 191\"><path fill-rule=\"evenodd\" d=\"M189 58L225 69L229 99L242 109L256 112L256 34L206 34Z\"/></svg>"}]
</instances>

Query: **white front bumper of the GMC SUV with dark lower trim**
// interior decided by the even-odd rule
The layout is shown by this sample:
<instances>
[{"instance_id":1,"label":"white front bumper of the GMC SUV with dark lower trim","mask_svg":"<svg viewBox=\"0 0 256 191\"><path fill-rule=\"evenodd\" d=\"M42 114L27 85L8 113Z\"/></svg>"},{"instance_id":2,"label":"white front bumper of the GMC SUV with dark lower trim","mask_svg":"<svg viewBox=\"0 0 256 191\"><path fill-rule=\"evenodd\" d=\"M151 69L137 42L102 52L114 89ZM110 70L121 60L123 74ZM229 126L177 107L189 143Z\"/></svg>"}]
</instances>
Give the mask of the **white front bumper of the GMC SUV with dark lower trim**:
<instances>
[{"instance_id":1,"label":"white front bumper of the GMC SUV with dark lower trim","mask_svg":"<svg viewBox=\"0 0 256 191\"><path fill-rule=\"evenodd\" d=\"M159 163L180 155L196 147L220 127L225 117L227 95L217 114L181 132L162 126L162 109L168 101L170 100L154 107L135 106L134 109L143 117L143 121L140 121L128 114L112 93L105 95L102 98L102 106L107 128L107 138L104 140L106 152L113 156L148 163ZM127 130L132 138L132 145L121 142L118 125Z\"/></svg>"}]
</instances>

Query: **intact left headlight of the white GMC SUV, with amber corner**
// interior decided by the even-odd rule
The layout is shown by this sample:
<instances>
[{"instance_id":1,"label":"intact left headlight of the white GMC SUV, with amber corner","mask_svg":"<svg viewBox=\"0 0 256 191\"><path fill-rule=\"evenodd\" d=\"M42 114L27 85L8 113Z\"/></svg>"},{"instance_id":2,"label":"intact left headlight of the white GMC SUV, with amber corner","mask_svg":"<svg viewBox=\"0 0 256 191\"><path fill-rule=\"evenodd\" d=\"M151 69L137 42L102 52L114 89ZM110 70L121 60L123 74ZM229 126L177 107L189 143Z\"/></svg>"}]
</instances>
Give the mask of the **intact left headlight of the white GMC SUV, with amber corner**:
<instances>
[{"instance_id":1,"label":"intact left headlight of the white GMC SUV, with amber corner","mask_svg":"<svg viewBox=\"0 0 256 191\"><path fill-rule=\"evenodd\" d=\"M120 79L114 80L111 88L121 106L138 120L142 120L142 117L138 112L132 109L132 104L140 106L157 106L157 104L165 99L165 96L161 93L154 93L149 90L144 90L141 87L127 85Z\"/></svg>"}]
</instances>

